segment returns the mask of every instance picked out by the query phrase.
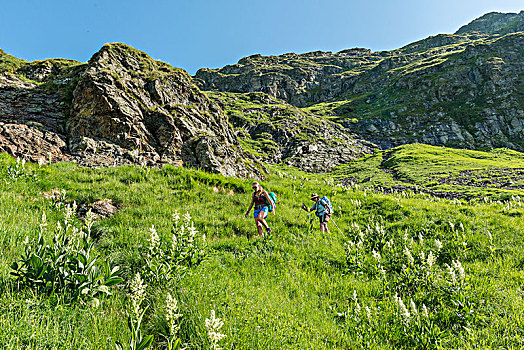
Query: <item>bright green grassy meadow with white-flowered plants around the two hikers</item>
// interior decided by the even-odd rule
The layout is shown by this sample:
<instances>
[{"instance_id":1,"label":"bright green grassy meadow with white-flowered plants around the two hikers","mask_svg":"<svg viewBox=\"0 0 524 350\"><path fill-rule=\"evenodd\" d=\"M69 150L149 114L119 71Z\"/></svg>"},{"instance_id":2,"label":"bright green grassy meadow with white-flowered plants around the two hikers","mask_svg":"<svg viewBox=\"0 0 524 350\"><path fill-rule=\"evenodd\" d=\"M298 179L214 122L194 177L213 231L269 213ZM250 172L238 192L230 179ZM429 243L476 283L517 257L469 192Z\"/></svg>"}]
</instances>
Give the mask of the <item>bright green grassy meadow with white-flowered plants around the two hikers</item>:
<instances>
[{"instance_id":1,"label":"bright green grassy meadow with white-flowered plants around the two hikers","mask_svg":"<svg viewBox=\"0 0 524 350\"><path fill-rule=\"evenodd\" d=\"M408 151L380 161L371 156L355 163L360 170L346 166L335 175L271 166L261 182L278 195L269 237L255 236L252 212L244 217L251 180L171 166L22 165L1 155L0 348L137 349L137 337L149 340L150 349L174 349L178 339L186 349L522 348L520 190L431 180L440 190L468 194L446 200L355 184L358 176L382 176L371 161L389 162L395 173L385 173L388 181L428 187L424 174L456 177L479 169L452 162L431 170L446 156L432 161ZM483 159L482 169L520 167L513 161L521 154L504 152L512 158ZM470 162L481 159L475 155ZM405 161L416 157L428 161L423 167ZM341 174L356 180L342 184ZM302 203L312 204L312 192L334 205L329 234L320 232L314 214L300 212ZM118 211L88 224L86 210L100 200ZM82 249L91 249L90 259L99 256L94 266L119 266L122 281L88 289L72 279L60 289L67 277L50 289L42 276L11 275L12 264L20 266L38 247L63 245L70 257L77 248L60 243L68 235L92 242ZM215 320L210 337L212 311L223 326Z\"/></svg>"}]
</instances>

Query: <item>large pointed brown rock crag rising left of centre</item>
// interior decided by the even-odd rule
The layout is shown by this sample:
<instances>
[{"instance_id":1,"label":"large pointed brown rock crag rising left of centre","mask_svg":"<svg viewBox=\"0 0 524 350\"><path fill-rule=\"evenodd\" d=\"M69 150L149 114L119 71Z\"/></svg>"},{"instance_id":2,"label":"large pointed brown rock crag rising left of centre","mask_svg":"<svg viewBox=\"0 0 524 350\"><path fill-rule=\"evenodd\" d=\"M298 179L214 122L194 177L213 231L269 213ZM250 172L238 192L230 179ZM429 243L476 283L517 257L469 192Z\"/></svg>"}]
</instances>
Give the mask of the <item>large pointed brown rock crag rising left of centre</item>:
<instances>
[{"instance_id":1,"label":"large pointed brown rock crag rising left of centre","mask_svg":"<svg viewBox=\"0 0 524 350\"><path fill-rule=\"evenodd\" d=\"M229 176L255 169L222 110L180 69L123 44L105 45L75 87L71 153L89 163L184 164Z\"/></svg>"}]
</instances>

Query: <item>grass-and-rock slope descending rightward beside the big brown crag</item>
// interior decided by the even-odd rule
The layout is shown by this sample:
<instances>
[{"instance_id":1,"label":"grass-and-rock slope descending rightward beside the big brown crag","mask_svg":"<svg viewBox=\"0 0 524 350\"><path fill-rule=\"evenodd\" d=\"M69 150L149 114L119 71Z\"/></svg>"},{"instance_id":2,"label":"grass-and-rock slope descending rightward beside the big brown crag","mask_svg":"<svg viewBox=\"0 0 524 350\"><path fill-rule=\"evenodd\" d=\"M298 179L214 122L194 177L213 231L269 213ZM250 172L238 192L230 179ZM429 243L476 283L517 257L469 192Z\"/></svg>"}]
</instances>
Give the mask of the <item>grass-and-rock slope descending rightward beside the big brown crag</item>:
<instances>
[{"instance_id":1,"label":"grass-and-rock slope descending rightward beside the big brown crag","mask_svg":"<svg viewBox=\"0 0 524 350\"><path fill-rule=\"evenodd\" d=\"M224 109L242 147L267 163L328 172L376 149L341 125L264 93L208 95Z\"/></svg>"}]
</instances>

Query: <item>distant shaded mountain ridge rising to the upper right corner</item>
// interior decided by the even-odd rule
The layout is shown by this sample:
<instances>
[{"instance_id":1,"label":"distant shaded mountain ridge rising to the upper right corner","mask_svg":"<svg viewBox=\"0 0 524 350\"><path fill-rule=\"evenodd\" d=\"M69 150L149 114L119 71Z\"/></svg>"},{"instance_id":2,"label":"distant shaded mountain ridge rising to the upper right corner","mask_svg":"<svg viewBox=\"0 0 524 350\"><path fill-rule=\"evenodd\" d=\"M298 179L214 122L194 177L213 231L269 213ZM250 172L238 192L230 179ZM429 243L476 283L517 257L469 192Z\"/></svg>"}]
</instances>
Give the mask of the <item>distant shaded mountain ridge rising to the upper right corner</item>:
<instances>
[{"instance_id":1,"label":"distant shaded mountain ridge rising to the upper right corner","mask_svg":"<svg viewBox=\"0 0 524 350\"><path fill-rule=\"evenodd\" d=\"M524 11L388 52L241 59L195 75L205 90L261 91L382 148L422 142L524 150Z\"/></svg>"}]
</instances>

